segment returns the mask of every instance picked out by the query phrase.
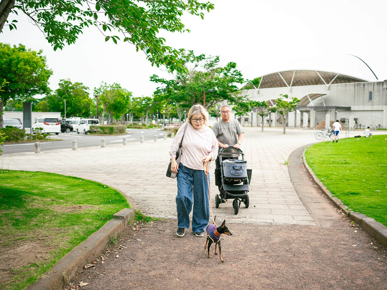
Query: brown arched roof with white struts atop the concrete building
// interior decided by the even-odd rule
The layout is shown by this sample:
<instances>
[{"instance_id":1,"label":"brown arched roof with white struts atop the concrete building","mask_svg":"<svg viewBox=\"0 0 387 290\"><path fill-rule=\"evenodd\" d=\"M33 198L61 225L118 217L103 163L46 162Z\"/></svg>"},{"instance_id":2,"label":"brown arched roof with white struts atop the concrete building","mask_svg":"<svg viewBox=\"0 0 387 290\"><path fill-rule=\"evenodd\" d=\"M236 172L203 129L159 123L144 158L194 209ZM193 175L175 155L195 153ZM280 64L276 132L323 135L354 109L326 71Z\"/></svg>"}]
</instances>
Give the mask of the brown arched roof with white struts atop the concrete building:
<instances>
[{"instance_id":1,"label":"brown arched roof with white struts atop the concrete building","mask_svg":"<svg viewBox=\"0 0 387 290\"><path fill-rule=\"evenodd\" d=\"M321 70L285 70L262 76L259 88L294 87L368 82L361 78Z\"/></svg>"}]
</instances>

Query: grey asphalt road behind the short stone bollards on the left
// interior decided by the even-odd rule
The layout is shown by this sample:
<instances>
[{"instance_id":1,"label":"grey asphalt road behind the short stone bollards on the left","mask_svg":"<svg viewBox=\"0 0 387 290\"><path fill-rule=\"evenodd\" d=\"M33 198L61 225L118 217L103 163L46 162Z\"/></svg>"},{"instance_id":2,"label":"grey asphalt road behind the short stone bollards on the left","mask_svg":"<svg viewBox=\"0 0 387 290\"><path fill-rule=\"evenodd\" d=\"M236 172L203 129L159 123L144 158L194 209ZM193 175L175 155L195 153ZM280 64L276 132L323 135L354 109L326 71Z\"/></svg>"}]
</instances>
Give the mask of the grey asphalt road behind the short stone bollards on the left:
<instances>
[{"instance_id":1,"label":"grey asphalt road behind the short stone bollards on the left","mask_svg":"<svg viewBox=\"0 0 387 290\"><path fill-rule=\"evenodd\" d=\"M101 139L106 139L106 145L122 143L123 137L126 137L127 142L140 141L140 136L144 136L144 140L151 140L154 135L158 138L163 138L166 131L161 130L150 130L150 129L127 129L127 133L116 136L95 136L95 135L84 135L77 134L76 132L70 133L59 133L58 135L51 135L51 139L62 139L61 141L49 141L41 142L40 150L53 150L60 148L72 148L72 140L77 140L78 147L90 147L90 146L101 146ZM34 143L21 143L14 145L4 145L2 147L2 154L18 153L18 152L34 152Z\"/></svg>"}]
</instances>

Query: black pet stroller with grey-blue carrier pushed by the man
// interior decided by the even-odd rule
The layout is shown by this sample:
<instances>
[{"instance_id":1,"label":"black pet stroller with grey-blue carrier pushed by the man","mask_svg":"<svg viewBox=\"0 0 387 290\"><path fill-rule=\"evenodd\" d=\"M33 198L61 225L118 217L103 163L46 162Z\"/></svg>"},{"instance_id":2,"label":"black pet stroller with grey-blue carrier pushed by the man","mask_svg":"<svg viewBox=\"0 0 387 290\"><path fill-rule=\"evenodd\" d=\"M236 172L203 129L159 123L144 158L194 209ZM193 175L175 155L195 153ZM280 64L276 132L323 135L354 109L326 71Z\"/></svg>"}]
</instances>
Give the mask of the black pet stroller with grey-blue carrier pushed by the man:
<instances>
[{"instance_id":1,"label":"black pet stroller with grey-blue carrier pushed by the man","mask_svg":"<svg viewBox=\"0 0 387 290\"><path fill-rule=\"evenodd\" d=\"M229 152L225 152L228 150ZM232 150L233 152L230 152ZM241 155L242 159L235 159L236 157L228 158L227 155ZM237 215L241 201L245 207L249 206L248 185L251 180L251 169L247 169L247 160L240 149L233 147L222 148L219 151L220 168L215 169L215 184L219 187L219 194L215 196L215 206L219 207L221 201L234 198L233 209Z\"/></svg>"}]
</instances>

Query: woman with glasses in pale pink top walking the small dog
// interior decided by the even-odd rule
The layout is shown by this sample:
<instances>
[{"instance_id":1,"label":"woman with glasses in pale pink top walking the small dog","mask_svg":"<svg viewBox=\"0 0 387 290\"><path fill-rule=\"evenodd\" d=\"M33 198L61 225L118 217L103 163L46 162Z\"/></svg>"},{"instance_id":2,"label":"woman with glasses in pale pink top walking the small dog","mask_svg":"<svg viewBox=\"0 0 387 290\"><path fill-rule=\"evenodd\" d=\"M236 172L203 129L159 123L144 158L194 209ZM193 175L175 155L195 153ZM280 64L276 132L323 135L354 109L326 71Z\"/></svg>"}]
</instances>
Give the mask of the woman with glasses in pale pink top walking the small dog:
<instances>
[{"instance_id":1,"label":"woman with glasses in pale pink top walking the small dog","mask_svg":"<svg viewBox=\"0 0 387 290\"><path fill-rule=\"evenodd\" d=\"M201 105L194 105L188 112L188 121L180 126L170 148L171 171L177 173L177 226L176 234L184 235L190 227L192 204L192 232L203 237L204 229L210 218L207 176L203 170L205 162L217 157L218 143L214 132L207 127L207 112ZM187 126L183 141L180 164L176 162L176 152L182 140L184 128ZM207 164L207 170L210 163Z\"/></svg>"}]
</instances>

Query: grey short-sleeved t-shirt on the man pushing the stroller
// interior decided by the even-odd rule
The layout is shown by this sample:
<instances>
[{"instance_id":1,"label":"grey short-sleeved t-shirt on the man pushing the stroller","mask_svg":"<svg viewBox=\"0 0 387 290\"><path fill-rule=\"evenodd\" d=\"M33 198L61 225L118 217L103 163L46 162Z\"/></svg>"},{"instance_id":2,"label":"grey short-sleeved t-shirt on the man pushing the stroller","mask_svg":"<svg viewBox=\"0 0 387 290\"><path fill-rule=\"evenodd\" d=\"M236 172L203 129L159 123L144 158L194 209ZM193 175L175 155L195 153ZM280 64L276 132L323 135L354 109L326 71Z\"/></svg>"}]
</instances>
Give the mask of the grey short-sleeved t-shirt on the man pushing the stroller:
<instances>
[{"instance_id":1,"label":"grey short-sleeved t-shirt on the man pushing the stroller","mask_svg":"<svg viewBox=\"0 0 387 290\"><path fill-rule=\"evenodd\" d=\"M223 122L222 119L217 121L214 126L212 126L212 131L214 132L216 139L223 143L228 144L229 147L233 147L238 142L238 135L245 133L239 124L238 120L230 119L228 122ZM218 148L219 150L222 147ZM228 157L236 157L238 155L227 155Z\"/></svg>"}]
</instances>

